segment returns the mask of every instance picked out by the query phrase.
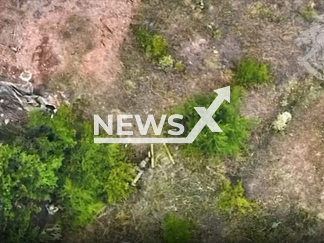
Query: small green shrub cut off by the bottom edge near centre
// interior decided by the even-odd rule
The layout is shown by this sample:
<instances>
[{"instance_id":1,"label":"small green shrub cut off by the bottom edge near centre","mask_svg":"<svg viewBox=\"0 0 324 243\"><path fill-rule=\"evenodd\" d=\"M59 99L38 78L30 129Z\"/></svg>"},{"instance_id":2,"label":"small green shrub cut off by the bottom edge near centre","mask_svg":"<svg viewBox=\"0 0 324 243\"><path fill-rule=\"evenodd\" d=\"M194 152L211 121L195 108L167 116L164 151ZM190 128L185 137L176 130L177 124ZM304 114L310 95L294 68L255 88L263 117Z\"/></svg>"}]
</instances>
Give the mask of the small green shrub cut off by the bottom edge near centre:
<instances>
[{"instance_id":1,"label":"small green shrub cut off by the bottom edge near centre","mask_svg":"<svg viewBox=\"0 0 324 243\"><path fill-rule=\"evenodd\" d=\"M162 227L166 243L189 243L191 240L190 222L188 220L169 214Z\"/></svg>"}]
</instances>

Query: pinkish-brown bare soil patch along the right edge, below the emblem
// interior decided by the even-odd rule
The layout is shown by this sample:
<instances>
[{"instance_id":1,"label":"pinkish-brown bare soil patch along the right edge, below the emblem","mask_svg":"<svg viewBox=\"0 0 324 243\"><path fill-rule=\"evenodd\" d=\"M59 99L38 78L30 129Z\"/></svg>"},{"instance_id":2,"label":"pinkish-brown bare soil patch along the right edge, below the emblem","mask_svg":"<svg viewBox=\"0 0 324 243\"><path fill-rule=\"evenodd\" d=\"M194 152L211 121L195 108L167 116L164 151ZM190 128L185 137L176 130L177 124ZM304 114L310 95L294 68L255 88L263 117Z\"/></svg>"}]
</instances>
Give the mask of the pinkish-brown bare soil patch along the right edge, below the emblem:
<instances>
[{"instance_id":1,"label":"pinkish-brown bare soil patch along the right edge, below the emblem","mask_svg":"<svg viewBox=\"0 0 324 243\"><path fill-rule=\"evenodd\" d=\"M323 212L323 96L299 107L287 132L259 151L248 193L280 213L292 203Z\"/></svg>"}]
</instances>

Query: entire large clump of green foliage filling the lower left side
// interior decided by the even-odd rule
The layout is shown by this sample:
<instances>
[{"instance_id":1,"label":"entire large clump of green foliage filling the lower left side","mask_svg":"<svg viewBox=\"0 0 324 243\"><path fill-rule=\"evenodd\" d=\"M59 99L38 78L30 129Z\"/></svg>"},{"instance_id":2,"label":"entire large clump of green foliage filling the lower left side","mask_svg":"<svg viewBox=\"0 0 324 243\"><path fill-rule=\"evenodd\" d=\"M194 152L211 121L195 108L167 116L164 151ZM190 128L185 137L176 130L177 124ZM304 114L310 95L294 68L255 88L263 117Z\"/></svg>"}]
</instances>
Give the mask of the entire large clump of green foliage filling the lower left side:
<instances>
[{"instance_id":1,"label":"entire large clump of green foliage filling the lower left side","mask_svg":"<svg viewBox=\"0 0 324 243\"><path fill-rule=\"evenodd\" d=\"M54 198L63 222L89 224L106 203L130 193L134 171L127 160L121 145L94 144L92 124L71 107L54 118L32 112L23 134L0 149L0 235L8 242L25 238L40 203Z\"/></svg>"}]
</instances>

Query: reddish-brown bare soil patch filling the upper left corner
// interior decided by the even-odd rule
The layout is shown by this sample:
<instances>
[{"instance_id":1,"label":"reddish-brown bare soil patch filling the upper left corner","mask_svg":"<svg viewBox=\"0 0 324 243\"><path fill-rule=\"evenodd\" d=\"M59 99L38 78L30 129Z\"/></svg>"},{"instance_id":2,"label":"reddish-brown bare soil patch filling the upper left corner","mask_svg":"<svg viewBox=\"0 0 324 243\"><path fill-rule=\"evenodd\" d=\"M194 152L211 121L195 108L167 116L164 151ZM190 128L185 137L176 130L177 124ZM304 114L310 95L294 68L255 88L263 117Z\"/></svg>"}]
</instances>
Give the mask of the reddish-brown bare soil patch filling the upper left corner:
<instances>
[{"instance_id":1,"label":"reddish-brown bare soil patch filling the upper left corner","mask_svg":"<svg viewBox=\"0 0 324 243\"><path fill-rule=\"evenodd\" d=\"M31 71L36 85L70 66L98 80L97 88L110 83L137 6L127 0L1 1L0 65Z\"/></svg>"}]
</instances>

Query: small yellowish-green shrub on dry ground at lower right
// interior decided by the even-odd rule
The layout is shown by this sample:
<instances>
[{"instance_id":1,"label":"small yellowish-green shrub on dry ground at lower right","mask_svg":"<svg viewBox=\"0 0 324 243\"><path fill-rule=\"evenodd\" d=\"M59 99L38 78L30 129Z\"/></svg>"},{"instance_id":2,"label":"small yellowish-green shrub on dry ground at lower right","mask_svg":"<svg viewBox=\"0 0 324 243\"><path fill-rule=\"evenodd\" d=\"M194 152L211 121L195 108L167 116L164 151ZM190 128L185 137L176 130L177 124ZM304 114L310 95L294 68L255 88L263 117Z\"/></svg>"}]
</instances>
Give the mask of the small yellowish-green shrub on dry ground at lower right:
<instances>
[{"instance_id":1,"label":"small yellowish-green shrub on dry ground at lower right","mask_svg":"<svg viewBox=\"0 0 324 243\"><path fill-rule=\"evenodd\" d=\"M222 192L219 194L217 200L217 209L219 212L242 216L251 212L256 206L256 203L245 198L241 181L236 185L231 185L228 181L223 183Z\"/></svg>"}]
</instances>

